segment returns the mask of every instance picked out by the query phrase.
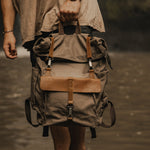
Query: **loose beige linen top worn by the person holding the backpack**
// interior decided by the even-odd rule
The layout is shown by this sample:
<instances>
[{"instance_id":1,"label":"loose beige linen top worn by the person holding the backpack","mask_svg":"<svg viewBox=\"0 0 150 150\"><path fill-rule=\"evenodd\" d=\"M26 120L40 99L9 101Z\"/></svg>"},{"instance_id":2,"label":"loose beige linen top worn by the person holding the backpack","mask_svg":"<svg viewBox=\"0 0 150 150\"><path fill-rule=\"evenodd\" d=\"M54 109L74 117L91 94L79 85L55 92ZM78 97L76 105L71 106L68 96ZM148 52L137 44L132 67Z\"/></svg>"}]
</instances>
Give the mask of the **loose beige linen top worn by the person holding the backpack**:
<instances>
[{"instance_id":1,"label":"loose beige linen top worn by the person holding the backpack","mask_svg":"<svg viewBox=\"0 0 150 150\"><path fill-rule=\"evenodd\" d=\"M41 31L50 32L57 29L59 4L65 0L13 0L14 7L20 15L22 45L41 35ZM103 18L97 0L82 0L79 13L80 25L91 26L105 32Z\"/></svg>"}]
</instances>

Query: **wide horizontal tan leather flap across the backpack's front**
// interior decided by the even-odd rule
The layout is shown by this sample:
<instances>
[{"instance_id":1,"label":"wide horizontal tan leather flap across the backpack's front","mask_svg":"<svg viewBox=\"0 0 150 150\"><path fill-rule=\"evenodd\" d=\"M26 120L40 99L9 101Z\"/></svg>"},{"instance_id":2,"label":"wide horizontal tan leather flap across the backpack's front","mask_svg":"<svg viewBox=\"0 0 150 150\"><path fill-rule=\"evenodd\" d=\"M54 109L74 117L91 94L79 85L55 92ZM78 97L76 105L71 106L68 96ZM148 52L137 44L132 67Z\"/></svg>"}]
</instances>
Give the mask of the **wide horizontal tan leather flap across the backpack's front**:
<instances>
[{"instance_id":1,"label":"wide horizontal tan leather flap across the backpack's front","mask_svg":"<svg viewBox=\"0 0 150 150\"><path fill-rule=\"evenodd\" d=\"M41 76L40 88L44 91L69 92L69 80L73 80L73 92L76 93L99 93L101 82L99 79L90 78L60 78Z\"/></svg>"}]
</instances>

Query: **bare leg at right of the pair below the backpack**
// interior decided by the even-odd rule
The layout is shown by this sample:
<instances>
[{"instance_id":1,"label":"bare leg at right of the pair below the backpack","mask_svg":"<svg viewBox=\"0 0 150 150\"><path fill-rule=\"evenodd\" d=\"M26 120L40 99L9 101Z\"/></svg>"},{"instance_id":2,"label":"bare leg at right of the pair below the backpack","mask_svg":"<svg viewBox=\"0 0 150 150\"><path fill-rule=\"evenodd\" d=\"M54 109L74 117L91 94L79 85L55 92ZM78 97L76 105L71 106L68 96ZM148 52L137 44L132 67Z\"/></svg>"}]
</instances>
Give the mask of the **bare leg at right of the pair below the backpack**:
<instances>
[{"instance_id":1,"label":"bare leg at right of the pair below the backpack","mask_svg":"<svg viewBox=\"0 0 150 150\"><path fill-rule=\"evenodd\" d=\"M85 150L85 127L71 126L69 127L71 136L70 150Z\"/></svg>"}]
</instances>

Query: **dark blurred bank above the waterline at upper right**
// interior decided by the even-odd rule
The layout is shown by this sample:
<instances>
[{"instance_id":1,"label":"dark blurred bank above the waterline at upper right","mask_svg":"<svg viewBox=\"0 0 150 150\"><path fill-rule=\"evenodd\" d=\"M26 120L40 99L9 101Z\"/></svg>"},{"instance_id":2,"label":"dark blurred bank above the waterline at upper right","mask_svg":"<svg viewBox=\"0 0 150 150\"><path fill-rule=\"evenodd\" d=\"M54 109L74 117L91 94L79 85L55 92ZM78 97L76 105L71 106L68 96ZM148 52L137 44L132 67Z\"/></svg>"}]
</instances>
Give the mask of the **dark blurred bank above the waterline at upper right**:
<instances>
[{"instance_id":1,"label":"dark blurred bank above the waterline at upper right","mask_svg":"<svg viewBox=\"0 0 150 150\"><path fill-rule=\"evenodd\" d=\"M99 0L99 4L111 50L149 51L149 0Z\"/></svg>"}]
</instances>

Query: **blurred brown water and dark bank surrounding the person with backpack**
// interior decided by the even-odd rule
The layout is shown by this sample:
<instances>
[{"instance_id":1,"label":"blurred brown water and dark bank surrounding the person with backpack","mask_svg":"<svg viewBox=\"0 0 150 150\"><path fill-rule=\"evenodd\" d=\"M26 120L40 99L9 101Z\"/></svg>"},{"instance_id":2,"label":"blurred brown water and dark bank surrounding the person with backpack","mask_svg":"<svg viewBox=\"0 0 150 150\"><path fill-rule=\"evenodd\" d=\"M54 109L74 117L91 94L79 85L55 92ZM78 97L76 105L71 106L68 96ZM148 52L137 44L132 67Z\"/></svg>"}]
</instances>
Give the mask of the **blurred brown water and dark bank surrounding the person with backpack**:
<instances>
[{"instance_id":1,"label":"blurred brown water and dark bank surrounding the person with backpack","mask_svg":"<svg viewBox=\"0 0 150 150\"><path fill-rule=\"evenodd\" d=\"M149 150L150 147L150 0L98 0L103 14L113 70L106 91L114 103L117 123L97 128L97 138L86 132L87 150ZM19 18L15 23L18 51ZM0 33L3 31L0 12ZM31 64L23 53L9 60L2 53L0 34L0 149L54 149L51 136L31 127L24 114L30 95ZM21 54L20 53L20 54ZM107 121L107 120L106 120Z\"/></svg>"}]
</instances>

